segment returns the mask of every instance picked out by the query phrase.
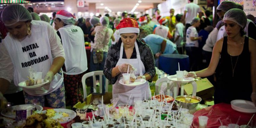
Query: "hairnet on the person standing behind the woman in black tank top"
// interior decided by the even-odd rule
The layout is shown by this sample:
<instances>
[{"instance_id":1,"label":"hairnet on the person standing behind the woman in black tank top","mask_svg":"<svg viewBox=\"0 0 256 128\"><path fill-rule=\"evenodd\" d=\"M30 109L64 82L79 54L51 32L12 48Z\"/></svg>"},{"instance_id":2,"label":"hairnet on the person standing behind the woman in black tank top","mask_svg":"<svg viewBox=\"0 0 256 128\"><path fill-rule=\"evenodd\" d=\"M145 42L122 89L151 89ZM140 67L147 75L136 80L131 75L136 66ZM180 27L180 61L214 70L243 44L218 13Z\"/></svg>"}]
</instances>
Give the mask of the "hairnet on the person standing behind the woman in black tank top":
<instances>
[{"instance_id":1,"label":"hairnet on the person standing behind the woman in black tank top","mask_svg":"<svg viewBox=\"0 0 256 128\"><path fill-rule=\"evenodd\" d=\"M243 6L240 4L236 4L232 1L222 1L220 5L217 7L217 10L221 10L222 12L228 12L228 10L232 8L238 8L243 10Z\"/></svg>"}]
</instances>

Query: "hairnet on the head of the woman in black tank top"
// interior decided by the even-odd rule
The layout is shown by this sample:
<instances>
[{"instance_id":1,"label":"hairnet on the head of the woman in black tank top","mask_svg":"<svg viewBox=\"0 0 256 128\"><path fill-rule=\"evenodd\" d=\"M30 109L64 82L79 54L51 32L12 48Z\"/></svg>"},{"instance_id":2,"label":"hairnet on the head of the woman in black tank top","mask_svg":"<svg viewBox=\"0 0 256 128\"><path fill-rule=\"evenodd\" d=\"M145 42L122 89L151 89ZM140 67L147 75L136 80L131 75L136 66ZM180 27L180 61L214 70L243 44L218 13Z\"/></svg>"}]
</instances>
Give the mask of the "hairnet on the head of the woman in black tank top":
<instances>
[{"instance_id":1,"label":"hairnet on the head of the woman in black tank top","mask_svg":"<svg viewBox=\"0 0 256 128\"><path fill-rule=\"evenodd\" d=\"M244 11L236 8L230 9L225 13L223 21L225 20L236 22L243 29L247 23L246 14Z\"/></svg>"}]
</instances>

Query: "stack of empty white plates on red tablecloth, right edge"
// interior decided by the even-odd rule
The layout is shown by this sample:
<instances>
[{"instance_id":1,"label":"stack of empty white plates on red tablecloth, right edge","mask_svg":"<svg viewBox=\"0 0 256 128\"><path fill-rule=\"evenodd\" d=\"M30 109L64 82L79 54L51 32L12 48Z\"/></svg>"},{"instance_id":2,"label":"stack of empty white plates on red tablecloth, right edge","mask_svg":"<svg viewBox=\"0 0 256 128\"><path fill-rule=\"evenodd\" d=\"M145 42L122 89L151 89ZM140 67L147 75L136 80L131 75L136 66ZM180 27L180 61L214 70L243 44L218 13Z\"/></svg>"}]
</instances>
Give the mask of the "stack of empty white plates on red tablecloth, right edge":
<instances>
[{"instance_id":1,"label":"stack of empty white plates on red tablecloth, right edge","mask_svg":"<svg viewBox=\"0 0 256 128\"><path fill-rule=\"evenodd\" d=\"M254 106L254 103L247 100L232 100L231 107L239 112L256 113L256 107Z\"/></svg>"}]
</instances>

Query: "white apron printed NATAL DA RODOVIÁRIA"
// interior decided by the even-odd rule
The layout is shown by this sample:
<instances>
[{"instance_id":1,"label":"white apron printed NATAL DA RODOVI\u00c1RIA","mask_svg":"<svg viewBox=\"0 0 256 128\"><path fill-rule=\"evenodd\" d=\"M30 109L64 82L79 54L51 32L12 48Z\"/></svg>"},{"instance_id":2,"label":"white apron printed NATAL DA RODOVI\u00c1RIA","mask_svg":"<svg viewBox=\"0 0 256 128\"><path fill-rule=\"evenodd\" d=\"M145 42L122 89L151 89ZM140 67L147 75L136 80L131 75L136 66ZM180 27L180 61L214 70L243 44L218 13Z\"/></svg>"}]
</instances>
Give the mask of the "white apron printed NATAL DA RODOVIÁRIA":
<instances>
[{"instance_id":1,"label":"white apron printed NATAL DA RODOVI\u00c1RIA","mask_svg":"<svg viewBox=\"0 0 256 128\"><path fill-rule=\"evenodd\" d=\"M13 81L17 86L20 82L28 80L28 68L46 75L52 65L52 54L47 33L47 23L43 21L31 21L31 35L22 41L10 37L4 39L4 44L13 63ZM63 76L56 73L51 84L33 89L23 89L29 95L41 96L57 90L63 82Z\"/></svg>"}]
</instances>

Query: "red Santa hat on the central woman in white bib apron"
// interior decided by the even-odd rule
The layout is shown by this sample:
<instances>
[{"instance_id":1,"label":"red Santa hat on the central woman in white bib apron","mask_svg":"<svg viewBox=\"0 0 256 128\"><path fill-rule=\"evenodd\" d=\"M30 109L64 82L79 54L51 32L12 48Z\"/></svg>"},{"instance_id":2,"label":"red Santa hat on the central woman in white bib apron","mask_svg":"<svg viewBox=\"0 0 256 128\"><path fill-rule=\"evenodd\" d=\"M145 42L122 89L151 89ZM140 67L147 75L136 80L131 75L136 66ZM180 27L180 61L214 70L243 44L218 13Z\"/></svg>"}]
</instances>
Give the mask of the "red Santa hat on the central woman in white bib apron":
<instances>
[{"instance_id":1,"label":"red Santa hat on the central woman in white bib apron","mask_svg":"<svg viewBox=\"0 0 256 128\"><path fill-rule=\"evenodd\" d=\"M116 26L116 34L140 33L138 22L133 18L124 18Z\"/></svg>"}]
</instances>

